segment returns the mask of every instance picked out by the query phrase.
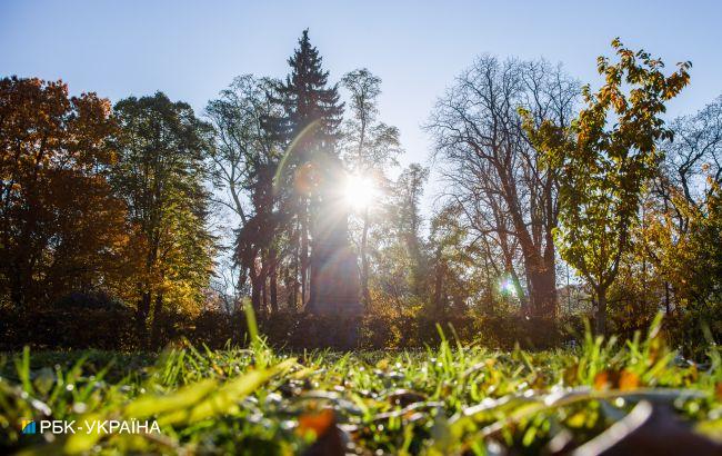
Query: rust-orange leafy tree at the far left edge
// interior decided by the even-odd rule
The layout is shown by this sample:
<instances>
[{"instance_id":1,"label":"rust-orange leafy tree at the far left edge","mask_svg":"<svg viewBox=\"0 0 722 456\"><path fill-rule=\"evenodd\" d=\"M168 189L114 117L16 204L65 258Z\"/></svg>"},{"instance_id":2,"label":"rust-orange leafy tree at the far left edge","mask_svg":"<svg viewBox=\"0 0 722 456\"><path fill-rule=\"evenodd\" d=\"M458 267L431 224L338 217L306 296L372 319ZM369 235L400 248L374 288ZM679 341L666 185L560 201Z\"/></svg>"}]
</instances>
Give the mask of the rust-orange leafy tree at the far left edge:
<instances>
[{"instance_id":1,"label":"rust-orange leafy tree at the far left edge","mask_svg":"<svg viewBox=\"0 0 722 456\"><path fill-rule=\"evenodd\" d=\"M114 132L94 93L0 80L0 293L17 309L120 288L124 206L106 179Z\"/></svg>"}]
</instances>

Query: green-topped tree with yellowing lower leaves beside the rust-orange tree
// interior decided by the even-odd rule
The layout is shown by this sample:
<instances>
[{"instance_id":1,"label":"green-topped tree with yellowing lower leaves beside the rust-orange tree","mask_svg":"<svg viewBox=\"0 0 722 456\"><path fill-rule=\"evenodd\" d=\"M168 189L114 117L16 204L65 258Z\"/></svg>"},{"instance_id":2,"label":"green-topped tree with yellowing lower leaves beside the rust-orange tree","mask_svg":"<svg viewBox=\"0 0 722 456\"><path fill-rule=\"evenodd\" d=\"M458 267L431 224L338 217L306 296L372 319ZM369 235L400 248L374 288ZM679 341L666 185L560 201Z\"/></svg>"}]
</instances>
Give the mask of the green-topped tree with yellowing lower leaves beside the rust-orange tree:
<instances>
[{"instance_id":1,"label":"green-topped tree with yellowing lower leaves beside the rust-orange tree","mask_svg":"<svg viewBox=\"0 0 722 456\"><path fill-rule=\"evenodd\" d=\"M128 205L142 256L136 277L138 331L141 343L156 344L166 307L198 308L209 282L213 238L207 227L203 159L210 127L188 103L172 102L162 92L123 99L116 113L121 133L112 182Z\"/></svg>"}]
</instances>

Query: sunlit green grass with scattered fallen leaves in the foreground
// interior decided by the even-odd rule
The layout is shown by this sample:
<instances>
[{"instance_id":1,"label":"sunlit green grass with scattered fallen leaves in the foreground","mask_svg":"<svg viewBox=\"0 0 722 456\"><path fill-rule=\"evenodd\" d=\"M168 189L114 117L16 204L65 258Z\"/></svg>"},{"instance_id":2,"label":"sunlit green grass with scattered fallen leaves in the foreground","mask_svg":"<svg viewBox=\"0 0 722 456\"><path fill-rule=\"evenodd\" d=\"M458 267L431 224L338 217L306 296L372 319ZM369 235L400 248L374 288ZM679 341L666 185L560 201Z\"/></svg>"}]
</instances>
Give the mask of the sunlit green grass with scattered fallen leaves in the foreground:
<instances>
[{"instance_id":1,"label":"sunlit green grass with scattered fallen leaves in the foreground","mask_svg":"<svg viewBox=\"0 0 722 456\"><path fill-rule=\"evenodd\" d=\"M285 354L185 347L160 355L10 354L0 452L24 454L541 453L582 444L641 399L722 438L722 361L681 359L656 330L628 343L502 353L444 339L420 351ZM161 434L21 435L21 419L156 419Z\"/></svg>"}]
</instances>

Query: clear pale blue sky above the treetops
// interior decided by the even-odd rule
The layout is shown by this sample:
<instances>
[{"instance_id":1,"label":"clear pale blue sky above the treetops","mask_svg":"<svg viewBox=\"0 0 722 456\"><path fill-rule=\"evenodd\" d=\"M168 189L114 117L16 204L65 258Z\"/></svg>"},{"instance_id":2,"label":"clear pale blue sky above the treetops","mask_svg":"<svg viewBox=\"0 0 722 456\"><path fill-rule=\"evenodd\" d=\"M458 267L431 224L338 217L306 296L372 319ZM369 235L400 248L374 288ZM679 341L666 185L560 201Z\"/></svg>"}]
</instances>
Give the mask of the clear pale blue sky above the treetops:
<instances>
[{"instance_id":1,"label":"clear pale blue sky above the treetops","mask_svg":"<svg viewBox=\"0 0 722 456\"><path fill-rule=\"evenodd\" d=\"M720 18L722 1L692 0L0 0L0 77L62 79L112 101L162 90L200 113L239 75L285 76L309 28L332 81L363 67L383 80L380 116L401 131L402 163L425 163L421 126L475 56L543 57L594 85L596 56L620 37L668 66L692 61L675 117L722 93Z\"/></svg>"}]
</instances>

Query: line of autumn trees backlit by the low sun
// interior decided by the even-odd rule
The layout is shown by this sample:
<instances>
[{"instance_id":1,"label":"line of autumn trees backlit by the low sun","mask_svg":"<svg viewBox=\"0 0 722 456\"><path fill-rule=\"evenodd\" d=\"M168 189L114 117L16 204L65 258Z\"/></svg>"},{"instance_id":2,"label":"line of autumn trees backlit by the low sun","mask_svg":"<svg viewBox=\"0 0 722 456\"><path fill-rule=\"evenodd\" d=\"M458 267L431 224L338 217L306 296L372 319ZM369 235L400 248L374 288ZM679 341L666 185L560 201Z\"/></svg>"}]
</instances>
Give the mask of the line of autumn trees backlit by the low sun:
<instances>
[{"instance_id":1,"label":"line of autumn trees backlit by the low sun","mask_svg":"<svg viewBox=\"0 0 722 456\"><path fill-rule=\"evenodd\" d=\"M31 314L93 296L131 309L148 347L171 315L233 314L247 298L297 318L317 299L337 192L332 229L384 340L500 317L625 331L660 309L719 338L722 98L664 122L691 66L613 50L598 90L543 60L479 57L424 125L429 166L405 168L381 79L332 83L308 30L285 79L238 77L200 113L162 92L111 106L4 78L0 304ZM424 217L430 171L444 190Z\"/></svg>"}]
</instances>

